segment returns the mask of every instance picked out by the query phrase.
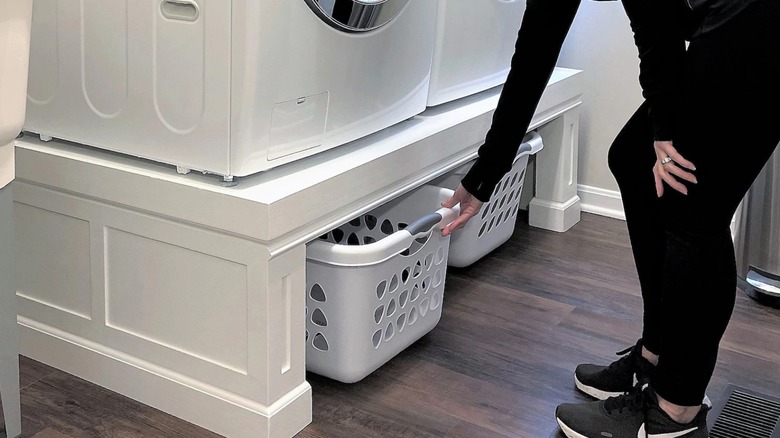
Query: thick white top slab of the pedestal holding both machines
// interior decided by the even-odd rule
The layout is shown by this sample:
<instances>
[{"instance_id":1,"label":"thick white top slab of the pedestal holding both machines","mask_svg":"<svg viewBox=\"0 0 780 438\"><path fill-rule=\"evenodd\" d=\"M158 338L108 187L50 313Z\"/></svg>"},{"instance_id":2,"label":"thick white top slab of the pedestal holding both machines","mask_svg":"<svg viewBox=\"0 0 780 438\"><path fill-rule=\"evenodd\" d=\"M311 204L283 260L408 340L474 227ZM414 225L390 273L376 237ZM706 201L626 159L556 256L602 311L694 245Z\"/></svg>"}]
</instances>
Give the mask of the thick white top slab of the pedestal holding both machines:
<instances>
[{"instance_id":1,"label":"thick white top slab of the pedestal holding both machines","mask_svg":"<svg viewBox=\"0 0 780 438\"><path fill-rule=\"evenodd\" d=\"M579 104L579 70L556 68L531 128ZM20 184L54 187L285 247L473 159L501 87L430 108L375 134L226 187L214 175L27 135ZM273 248L272 248L273 250Z\"/></svg>"}]
</instances>

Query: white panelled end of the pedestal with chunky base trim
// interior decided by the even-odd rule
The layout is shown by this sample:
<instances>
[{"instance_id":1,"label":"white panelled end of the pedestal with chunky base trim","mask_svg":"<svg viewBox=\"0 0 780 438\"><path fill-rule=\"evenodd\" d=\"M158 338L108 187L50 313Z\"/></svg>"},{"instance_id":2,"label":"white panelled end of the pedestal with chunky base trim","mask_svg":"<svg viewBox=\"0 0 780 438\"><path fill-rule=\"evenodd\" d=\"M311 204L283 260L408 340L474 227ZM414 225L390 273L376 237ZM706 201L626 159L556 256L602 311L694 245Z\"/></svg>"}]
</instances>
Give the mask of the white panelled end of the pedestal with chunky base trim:
<instances>
[{"instance_id":1,"label":"white panelled end of the pedestal with chunky base trim","mask_svg":"<svg viewBox=\"0 0 780 438\"><path fill-rule=\"evenodd\" d=\"M231 437L271 436L271 418L296 403L303 415L277 436L308 424L304 316L293 311L305 304L292 293L305 248L272 259L230 234L14 188L25 354ZM54 340L65 343L52 350ZM224 415L203 416L204 397Z\"/></svg>"}]
</instances>

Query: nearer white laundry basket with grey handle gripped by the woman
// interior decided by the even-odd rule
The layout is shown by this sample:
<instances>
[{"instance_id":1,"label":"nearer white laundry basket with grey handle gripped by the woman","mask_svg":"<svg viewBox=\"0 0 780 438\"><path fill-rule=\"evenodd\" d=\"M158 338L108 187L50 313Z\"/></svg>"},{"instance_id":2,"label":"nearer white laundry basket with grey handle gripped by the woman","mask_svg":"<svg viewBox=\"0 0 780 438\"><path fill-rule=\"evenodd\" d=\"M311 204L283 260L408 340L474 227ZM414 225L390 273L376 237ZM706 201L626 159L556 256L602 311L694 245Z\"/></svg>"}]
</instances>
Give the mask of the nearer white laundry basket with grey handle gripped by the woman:
<instances>
[{"instance_id":1,"label":"nearer white laundry basket with grey handle gripped by the woman","mask_svg":"<svg viewBox=\"0 0 780 438\"><path fill-rule=\"evenodd\" d=\"M436 326L452 193L423 186L307 245L308 371L357 382Z\"/></svg>"}]
</instances>

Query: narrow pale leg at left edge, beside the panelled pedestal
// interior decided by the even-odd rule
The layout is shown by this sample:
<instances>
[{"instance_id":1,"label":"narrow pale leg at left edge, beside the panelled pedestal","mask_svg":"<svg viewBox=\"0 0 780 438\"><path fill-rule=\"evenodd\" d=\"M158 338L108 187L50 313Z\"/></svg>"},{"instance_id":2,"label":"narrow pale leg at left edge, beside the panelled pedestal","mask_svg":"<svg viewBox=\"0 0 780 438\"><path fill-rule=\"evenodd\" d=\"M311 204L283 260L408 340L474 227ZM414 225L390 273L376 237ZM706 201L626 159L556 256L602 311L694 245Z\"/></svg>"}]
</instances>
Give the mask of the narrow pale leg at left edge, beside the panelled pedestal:
<instances>
[{"instance_id":1,"label":"narrow pale leg at left edge, beside the panelled pedestal","mask_svg":"<svg viewBox=\"0 0 780 438\"><path fill-rule=\"evenodd\" d=\"M19 405L19 341L14 281L13 198L11 187L0 189L0 396L6 436L22 433Z\"/></svg>"}]
</instances>

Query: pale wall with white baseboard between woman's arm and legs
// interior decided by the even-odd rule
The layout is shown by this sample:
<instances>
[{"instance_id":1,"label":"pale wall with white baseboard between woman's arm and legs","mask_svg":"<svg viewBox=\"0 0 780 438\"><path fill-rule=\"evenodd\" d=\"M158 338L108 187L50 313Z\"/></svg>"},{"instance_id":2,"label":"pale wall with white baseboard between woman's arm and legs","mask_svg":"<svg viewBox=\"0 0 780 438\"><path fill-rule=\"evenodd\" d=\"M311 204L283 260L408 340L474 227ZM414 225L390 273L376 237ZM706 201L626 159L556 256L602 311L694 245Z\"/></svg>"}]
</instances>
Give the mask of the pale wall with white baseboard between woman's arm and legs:
<instances>
[{"instance_id":1,"label":"pale wall with white baseboard between woman's arm and legs","mask_svg":"<svg viewBox=\"0 0 780 438\"><path fill-rule=\"evenodd\" d=\"M622 218L607 151L642 102L639 58L622 3L582 0L558 65L584 75L578 169L583 211Z\"/></svg>"}]
</instances>

